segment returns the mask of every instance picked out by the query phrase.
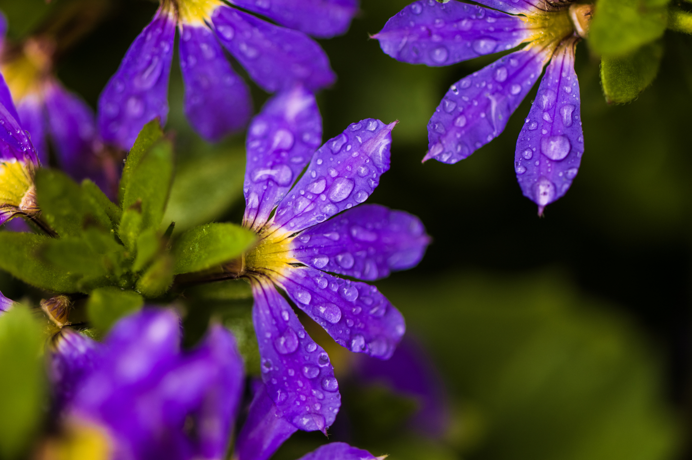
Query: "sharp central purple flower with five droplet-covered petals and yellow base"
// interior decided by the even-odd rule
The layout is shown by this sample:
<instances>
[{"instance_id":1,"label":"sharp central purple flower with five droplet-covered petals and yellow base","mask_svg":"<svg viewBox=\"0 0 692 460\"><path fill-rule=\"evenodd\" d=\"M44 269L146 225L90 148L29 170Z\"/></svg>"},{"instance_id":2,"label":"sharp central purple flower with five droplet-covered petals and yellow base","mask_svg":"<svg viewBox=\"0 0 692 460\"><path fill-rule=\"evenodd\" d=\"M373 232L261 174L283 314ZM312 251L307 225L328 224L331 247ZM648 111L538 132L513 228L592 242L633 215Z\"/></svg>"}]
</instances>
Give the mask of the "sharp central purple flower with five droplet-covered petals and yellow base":
<instances>
[{"instance_id":1,"label":"sharp central purple flower with five droplet-covered petals and yellow base","mask_svg":"<svg viewBox=\"0 0 692 460\"><path fill-rule=\"evenodd\" d=\"M340 394L329 356L275 285L352 352L389 358L406 330L376 287L326 273L376 280L423 256L429 238L418 218L357 206L389 169L395 124L364 119L317 148L322 125L315 98L295 86L267 102L249 128L244 226L257 231L259 242L226 275L251 282L262 380L293 429L326 432Z\"/></svg>"}]
</instances>

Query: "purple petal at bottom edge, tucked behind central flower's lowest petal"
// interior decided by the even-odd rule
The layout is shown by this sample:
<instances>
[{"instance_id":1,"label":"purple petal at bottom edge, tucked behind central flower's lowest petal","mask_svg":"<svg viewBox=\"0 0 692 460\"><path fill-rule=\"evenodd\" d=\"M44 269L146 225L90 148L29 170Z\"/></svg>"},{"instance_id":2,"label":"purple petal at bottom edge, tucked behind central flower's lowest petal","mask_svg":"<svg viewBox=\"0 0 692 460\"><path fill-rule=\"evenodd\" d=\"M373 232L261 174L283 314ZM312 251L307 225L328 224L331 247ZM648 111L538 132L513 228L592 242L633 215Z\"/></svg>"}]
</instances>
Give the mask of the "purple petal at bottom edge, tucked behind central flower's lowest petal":
<instances>
[{"instance_id":1,"label":"purple petal at bottom edge, tucked behind central flower's lowest petal","mask_svg":"<svg viewBox=\"0 0 692 460\"><path fill-rule=\"evenodd\" d=\"M255 396L242 430L235 440L236 460L267 460L298 431L287 421L266 392L264 383L255 385Z\"/></svg>"}]
</instances>

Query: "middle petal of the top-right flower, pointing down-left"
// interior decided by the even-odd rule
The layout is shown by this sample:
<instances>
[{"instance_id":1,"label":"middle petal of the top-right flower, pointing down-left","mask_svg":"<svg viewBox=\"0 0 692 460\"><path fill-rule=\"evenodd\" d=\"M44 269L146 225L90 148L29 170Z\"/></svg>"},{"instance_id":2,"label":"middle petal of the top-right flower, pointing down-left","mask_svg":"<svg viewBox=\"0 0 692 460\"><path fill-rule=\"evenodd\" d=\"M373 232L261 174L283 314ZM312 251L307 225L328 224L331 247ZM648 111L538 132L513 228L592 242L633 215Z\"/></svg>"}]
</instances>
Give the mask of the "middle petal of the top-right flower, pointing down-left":
<instances>
[{"instance_id":1,"label":"middle petal of the top-right flower, pointing down-left","mask_svg":"<svg viewBox=\"0 0 692 460\"><path fill-rule=\"evenodd\" d=\"M531 44L450 86L428 122L423 161L454 164L498 137L556 45Z\"/></svg>"}]
</instances>

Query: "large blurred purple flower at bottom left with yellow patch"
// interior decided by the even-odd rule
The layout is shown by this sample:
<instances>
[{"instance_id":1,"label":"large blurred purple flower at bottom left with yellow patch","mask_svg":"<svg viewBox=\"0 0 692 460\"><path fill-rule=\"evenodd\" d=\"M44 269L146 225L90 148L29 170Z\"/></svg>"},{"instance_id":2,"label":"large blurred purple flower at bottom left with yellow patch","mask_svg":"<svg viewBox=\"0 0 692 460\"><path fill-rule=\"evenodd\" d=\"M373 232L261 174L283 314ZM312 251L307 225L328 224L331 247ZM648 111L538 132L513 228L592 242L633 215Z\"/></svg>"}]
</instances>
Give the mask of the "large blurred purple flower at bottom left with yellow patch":
<instances>
[{"instance_id":1,"label":"large blurred purple flower at bottom left with yellow patch","mask_svg":"<svg viewBox=\"0 0 692 460\"><path fill-rule=\"evenodd\" d=\"M233 336L212 325L181 352L170 309L120 320L104 343L61 333L51 377L66 430L120 459L221 459L243 386Z\"/></svg>"}]
</instances>

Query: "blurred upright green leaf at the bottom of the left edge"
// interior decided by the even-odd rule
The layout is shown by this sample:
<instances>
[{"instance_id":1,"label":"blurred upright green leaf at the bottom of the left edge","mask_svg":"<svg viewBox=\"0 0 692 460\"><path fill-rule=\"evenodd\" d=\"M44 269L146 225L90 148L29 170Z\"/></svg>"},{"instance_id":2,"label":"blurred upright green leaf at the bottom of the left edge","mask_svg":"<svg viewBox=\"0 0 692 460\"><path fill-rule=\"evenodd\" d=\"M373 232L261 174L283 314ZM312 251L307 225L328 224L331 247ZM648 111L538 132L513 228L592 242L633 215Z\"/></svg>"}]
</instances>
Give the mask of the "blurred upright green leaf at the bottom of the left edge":
<instances>
[{"instance_id":1,"label":"blurred upright green leaf at the bottom of the left edge","mask_svg":"<svg viewBox=\"0 0 692 460\"><path fill-rule=\"evenodd\" d=\"M0 457L15 459L29 447L46 407L42 328L16 306L0 316Z\"/></svg>"}]
</instances>

